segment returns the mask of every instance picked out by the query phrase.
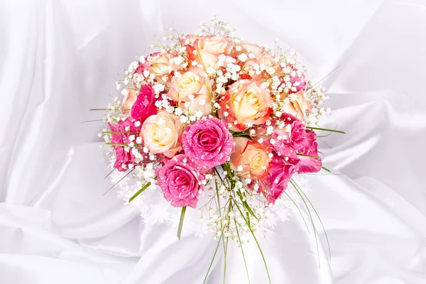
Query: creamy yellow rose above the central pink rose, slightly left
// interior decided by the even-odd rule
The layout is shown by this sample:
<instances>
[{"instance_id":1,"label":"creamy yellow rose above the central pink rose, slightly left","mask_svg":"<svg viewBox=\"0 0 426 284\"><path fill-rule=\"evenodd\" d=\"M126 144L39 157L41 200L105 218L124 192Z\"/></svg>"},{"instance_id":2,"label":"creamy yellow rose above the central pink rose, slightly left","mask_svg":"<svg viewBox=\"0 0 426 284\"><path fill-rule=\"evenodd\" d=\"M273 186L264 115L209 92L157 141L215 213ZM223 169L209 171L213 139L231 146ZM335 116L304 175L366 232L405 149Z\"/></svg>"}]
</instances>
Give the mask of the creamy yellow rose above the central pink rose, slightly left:
<instances>
[{"instance_id":1,"label":"creamy yellow rose above the central pink rose, slightly left","mask_svg":"<svg viewBox=\"0 0 426 284\"><path fill-rule=\"evenodd\" d=\"M188 71L180 74L175 73L173 79L168 83L168 97L175 102L188 102L190 94L209 94L204 82L207 79L207 73L198 67L190 67Z\"/></svg>"}]
</instances>

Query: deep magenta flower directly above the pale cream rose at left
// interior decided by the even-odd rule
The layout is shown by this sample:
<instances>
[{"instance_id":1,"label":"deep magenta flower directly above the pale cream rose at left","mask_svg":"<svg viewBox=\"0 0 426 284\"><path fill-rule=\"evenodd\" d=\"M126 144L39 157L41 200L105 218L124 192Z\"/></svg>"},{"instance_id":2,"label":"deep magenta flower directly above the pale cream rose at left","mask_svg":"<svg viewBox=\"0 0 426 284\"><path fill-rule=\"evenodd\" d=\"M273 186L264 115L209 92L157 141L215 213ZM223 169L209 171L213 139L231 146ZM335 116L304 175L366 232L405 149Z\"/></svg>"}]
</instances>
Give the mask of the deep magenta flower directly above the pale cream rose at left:
<instances>
[{"instance_id":1,"label":"deep magenta flower directly above the pale cream rose at left","mask_svg":"<svg viewBox=\"0 0 426 284\"><path fill-rule=\"evenodd\" d=\"M153 114L157 114L155 92L151 84L144 84L136 98L136 102L131 107L131 117L143 123L143 121Z\"/></svg>"}]
</instances>

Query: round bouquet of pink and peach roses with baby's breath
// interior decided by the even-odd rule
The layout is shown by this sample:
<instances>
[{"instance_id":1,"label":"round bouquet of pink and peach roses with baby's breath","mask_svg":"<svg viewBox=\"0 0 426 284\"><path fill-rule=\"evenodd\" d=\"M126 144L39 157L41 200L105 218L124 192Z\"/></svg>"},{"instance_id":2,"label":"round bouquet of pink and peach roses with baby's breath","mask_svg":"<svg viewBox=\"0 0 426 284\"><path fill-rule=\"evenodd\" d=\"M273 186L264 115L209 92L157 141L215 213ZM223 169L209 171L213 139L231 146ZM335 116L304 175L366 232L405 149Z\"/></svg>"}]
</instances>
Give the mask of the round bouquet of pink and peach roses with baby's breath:
<instances>
[{"instance_id":1,"label":"round bouquet of pink and peach roses with baby's breath","mask_svg":"<svg viewBox=\"0 0 426 284\"><path fill-rule=\"evenodd\" d=\"M271 227L268 209L291 199L290 185L305 202L293 177L322 169L315 130L327 130L315 127L327 112L324 88L306 80L297 53L233 31L216 17L197 34L170 28L152 46L159 52L117 80L124 97L104 109L102 133L113 171L140 185L129 202L160 191L180 209L179 238L195 209L225 250L247 235L258 245L256 232Z\"/></svg>"}]
</instances>

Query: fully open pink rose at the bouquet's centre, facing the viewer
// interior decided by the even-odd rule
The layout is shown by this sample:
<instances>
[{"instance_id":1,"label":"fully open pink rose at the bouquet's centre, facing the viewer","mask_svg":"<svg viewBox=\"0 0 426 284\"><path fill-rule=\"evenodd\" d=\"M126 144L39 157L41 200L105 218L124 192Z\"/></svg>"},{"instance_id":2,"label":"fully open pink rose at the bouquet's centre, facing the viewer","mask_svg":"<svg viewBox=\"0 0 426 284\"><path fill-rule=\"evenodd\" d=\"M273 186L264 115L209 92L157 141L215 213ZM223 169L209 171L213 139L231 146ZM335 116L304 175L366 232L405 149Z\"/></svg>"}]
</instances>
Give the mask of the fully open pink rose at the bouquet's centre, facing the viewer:
<instances>
[{"instance_id":1,"label":"fully open pink rose at the bouquet's centre, facing the viewer","mask_svg":"<svg viewBox=\"0 0 426 284\"><path fill-rule=\"evenodd\" d=\"M185 128L182 148L195 163L211 169L228 160L234 151L234 140L223 121L209 116Z\"/></svg>"}]
</instances>

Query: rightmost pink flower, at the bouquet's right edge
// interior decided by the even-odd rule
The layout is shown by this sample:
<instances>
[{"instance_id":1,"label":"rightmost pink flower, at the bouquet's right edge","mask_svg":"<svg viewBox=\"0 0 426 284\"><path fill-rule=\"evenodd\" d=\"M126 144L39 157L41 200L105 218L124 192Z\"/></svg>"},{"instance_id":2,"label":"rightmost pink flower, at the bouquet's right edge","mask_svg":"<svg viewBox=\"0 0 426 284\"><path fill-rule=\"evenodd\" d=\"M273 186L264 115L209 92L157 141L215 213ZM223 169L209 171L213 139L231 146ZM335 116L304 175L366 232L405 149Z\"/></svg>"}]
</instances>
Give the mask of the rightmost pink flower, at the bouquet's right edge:
<instances>
[{"instance_id":1,"label":"rightmost pink flower, at the bouquet's right edge","mask_svg":"<svg viewBox=\"0 0 426 284\"><path fill-rule=\"evenodd\" d=\"M315 131L306 130L305 143L303 144L303 147L299 153L303 155L318 155L317 134L315 134ZM317 173L321 170L322 161L320 158L313 158L302 155L298 155L297 158L297 173Z\"/></svg>"}]
</instances>

